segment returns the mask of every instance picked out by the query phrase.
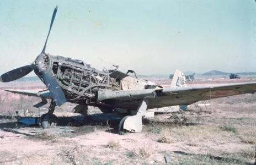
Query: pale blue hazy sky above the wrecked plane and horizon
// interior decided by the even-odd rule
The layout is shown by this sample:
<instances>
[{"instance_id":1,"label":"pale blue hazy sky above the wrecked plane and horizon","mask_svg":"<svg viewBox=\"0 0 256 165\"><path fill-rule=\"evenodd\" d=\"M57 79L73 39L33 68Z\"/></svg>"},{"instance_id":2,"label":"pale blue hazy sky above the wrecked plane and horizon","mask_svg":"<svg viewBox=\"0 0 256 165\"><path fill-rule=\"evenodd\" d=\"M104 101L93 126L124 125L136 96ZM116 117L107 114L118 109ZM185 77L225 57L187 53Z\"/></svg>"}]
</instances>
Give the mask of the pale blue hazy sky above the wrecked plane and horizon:
<instances>
[{"instance_id":1,"label":"pale blue hazy sky above the wrecked plane and horizon","mask_svg":"<svg viewBox=\"0 0 256 165\"><path fill-rule=\"evenodd\" d=\"M256 72L253 0L3 0L0 74L34 61L56 5L47 53L137 74Z\"/></svg>"}]
</instances>

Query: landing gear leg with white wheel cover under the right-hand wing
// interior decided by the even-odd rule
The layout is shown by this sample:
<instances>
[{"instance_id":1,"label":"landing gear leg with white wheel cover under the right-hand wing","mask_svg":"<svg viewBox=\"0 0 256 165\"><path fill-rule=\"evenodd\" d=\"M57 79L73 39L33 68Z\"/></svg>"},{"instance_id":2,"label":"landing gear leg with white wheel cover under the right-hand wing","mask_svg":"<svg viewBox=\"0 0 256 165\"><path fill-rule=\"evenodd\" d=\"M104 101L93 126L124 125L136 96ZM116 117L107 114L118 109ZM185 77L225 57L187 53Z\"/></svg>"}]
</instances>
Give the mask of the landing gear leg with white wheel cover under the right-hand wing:
<instances>
[{"instance_id":1,"label":"landing gear leg with white wheel cover under the right-hand wing","mask_svg":"<svg viewBox=\"0 0 256 165\"><path fill-rule=\"evenodd\" d=\"M148 98L144 98L135 116L126 116L119 123L119 134L124 135L125 131L141 133L142 118L145 116L148 105Z\"/></svg>"}]
</instances>

